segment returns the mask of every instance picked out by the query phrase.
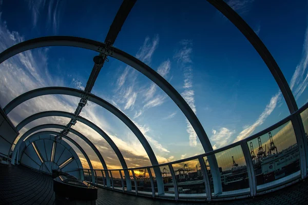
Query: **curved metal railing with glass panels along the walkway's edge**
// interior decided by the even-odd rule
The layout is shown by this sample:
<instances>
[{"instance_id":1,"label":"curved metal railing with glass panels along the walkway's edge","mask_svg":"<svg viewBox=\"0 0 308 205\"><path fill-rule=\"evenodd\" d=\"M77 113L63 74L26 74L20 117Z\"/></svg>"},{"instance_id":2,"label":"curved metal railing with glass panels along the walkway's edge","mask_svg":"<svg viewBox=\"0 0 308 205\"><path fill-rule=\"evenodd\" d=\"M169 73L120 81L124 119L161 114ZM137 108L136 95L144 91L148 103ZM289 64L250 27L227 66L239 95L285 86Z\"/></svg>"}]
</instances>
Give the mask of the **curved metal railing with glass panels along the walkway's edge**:
<instances>
[{"instance_id":1,"label":"curved metal railing with glass panels along the walkway's edge","mask_svg":"<svg viewBox=\"0 0 308 205\"><path fill-rule=\"evenodd\" d=\"M84 179L115 191L175 200L225 200L281 189L307 175L307 131L305 126L296 126L297 120L302 120L301 114L308 117L307 108L308 104L305 104L275 125L208 153L156 166L83 169ZM211 173L207 160L213 155L220 167L220 184L213 182L213 178L219 175ZM163 184L156 181L153 169L158 168ZM125 178L124 172L128 172L130 177ZM106 173L110 182L106 181ZM158 194L159 186L163 187L164 194ZM222 192L216 193L215 190Z\"/></svg>"}]
</instances>

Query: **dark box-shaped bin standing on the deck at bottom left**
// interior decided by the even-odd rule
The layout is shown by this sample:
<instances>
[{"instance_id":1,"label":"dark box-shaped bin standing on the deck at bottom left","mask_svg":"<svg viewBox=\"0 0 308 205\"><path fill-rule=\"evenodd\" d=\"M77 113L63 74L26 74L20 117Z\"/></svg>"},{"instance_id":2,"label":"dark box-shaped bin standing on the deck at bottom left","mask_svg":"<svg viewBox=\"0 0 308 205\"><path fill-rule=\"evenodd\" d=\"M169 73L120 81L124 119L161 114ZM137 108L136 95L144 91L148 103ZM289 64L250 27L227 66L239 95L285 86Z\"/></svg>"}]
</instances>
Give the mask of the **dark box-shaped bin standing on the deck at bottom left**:
<instances>
[{"instance_id":1,"label":"dark box-shaped bin standing on the deck at bottom left","mask_svg":"<svg viewBox=\"0 0 308 205\"><path fill-rule=\"evenodd\" d=\"M60 175L53 179L55 204L94 205L98 188L71 175Z\"/></svg>"}]
</instances>

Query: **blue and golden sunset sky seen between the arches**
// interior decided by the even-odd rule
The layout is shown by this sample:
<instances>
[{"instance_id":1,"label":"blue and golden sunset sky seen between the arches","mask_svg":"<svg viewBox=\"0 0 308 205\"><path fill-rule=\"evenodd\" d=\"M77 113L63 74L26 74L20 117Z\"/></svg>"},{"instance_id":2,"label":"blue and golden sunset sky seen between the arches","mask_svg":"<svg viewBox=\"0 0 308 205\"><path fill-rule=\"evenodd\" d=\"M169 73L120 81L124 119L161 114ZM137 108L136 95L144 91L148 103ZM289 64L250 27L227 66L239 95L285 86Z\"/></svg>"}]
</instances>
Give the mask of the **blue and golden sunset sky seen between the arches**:
<instances>
[{"instance_id":1,"label":"blue and golden sunset sky seen between the arches","mask_svg":"<svg viewBox=\"0 0 308 205\"><path fill-rule=\"evenodd\" d=\"M308 101L307 1L226 1L251 26L281 68L298 107ZM0 1L0 51L24 40L70 35L104 42L121 1ZM196 113L213 149L255 134L288 116L281 92L261 57L237 28L206 1L137 1L114 47L142 60L163 76ZM0 65L0 105L35 88L84 89L98 53L72 47L46 47L18 54ZM124 112L143 132L160 163L204 153L198 136L177 105L147 77L108 57L92 93ZM42 111L74 112L79 98L36 97L15 108L14 125ZM150 165L137 137L117 117L88 102L81 116L95 122L115 142L128 167ZM66 125L68 118L45 117ZM78 122L109 169L120 162L107 142ZM49 129L60 131L57 129ZM86 143L69 134L102 168ZM79 154L83 165L85 159Z\"/></svg>"}]
</instances>

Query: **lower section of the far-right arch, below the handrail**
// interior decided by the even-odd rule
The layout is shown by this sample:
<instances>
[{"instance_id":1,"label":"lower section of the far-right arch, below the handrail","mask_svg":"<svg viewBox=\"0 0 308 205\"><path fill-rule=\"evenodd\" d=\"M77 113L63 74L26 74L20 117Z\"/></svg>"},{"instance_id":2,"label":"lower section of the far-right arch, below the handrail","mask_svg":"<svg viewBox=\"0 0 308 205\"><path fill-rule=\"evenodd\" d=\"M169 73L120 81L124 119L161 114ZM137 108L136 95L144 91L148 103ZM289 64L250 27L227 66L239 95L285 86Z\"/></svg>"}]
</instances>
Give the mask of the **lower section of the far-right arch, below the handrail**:
<instances>
[{"instance_id":1,"label":"lower section of the far-right arch, below the handrail","mask_svg":"<svg viewBox=\"0 0 308 205\"><path fill-rule=\"evenodd\" d=\"M296 141L297 141L297 147L299 152L299 162L300 162L300 173L301 178L304 179L307 176L307 138L305 135L305 130L302 122L302 118L300 114L293 115L291 118Z\"/></svg>"}]
</instances>

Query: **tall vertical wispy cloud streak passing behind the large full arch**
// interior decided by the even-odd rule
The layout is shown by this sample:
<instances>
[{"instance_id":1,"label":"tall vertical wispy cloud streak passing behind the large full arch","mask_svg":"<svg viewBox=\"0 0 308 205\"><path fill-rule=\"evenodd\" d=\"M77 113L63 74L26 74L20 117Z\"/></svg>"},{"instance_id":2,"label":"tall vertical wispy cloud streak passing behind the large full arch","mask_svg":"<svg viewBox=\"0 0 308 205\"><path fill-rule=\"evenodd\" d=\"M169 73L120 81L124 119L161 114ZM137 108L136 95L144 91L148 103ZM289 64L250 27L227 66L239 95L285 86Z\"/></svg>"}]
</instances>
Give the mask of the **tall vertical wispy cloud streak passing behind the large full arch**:
<instances>
[{"instance_id":1,"label":"tall vertical wispy cloud streak passing behind the large full arch","mask_svg":"<svg viewBox=\"0 0 308 205\"><path fill-rule=\"evenodd\" d=\"M192 111L196 113L197 109L195 106L195 92L194 90L192 90L192 42L191 40L183 39L181 40L180 45L182 46L182 48L176 52L174 58L178 61L178 64L184 70L184 92L182 92L181 95L186 100ZM197 134L187 119L186 124L186 131L189 135L189 145L195 147L197 146Z\"/></svg>"}]
</instances>

